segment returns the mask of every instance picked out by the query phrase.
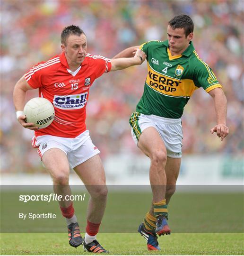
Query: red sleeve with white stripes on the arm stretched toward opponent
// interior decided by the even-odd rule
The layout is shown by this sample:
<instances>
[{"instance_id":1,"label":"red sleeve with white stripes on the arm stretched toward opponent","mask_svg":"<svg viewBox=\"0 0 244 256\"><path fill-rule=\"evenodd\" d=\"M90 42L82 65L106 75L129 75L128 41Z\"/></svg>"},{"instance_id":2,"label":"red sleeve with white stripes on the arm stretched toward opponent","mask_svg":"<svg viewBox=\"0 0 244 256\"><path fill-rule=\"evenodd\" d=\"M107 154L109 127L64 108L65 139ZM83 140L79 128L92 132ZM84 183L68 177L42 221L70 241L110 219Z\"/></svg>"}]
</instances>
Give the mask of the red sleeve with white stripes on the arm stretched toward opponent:
<instances>
[{"instance_id":1,"label":"red sleeve with white stripes on the arm stretched toward opponent","mask_svg":"<svg viewBox=\"0 0 244 256\"><path fill-rule=\"evenodd\" d=\"M108 73L111 70L112 64L110 59L107 59L101 55L90 54L87 54L87 57L93 60L96 78L101 76L103 73Z\"/></svg>"}]
</instances>

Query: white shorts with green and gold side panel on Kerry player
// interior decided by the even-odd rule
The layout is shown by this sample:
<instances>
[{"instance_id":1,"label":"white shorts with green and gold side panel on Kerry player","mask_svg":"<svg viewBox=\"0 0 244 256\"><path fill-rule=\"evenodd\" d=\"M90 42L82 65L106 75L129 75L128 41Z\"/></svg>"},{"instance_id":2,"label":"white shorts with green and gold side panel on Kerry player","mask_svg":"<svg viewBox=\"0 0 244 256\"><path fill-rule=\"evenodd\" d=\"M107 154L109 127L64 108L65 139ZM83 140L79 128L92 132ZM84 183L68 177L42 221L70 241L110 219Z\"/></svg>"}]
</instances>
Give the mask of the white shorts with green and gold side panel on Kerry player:
<instances>
[{"instance_id":1,"label":"white shorts with green and gold side panel on Kerry player","mask_svg":"<svg viewBox=\"0 0 244 256\"><path fill-rule=\"evenodd\" d=\"M181 119L169 119L134 112L130 118L130 125L131 134L136 145L141 133L148 127L154 127L165 143L167 156L181 158L183 139Z\"/></svg>"}]
</instances>

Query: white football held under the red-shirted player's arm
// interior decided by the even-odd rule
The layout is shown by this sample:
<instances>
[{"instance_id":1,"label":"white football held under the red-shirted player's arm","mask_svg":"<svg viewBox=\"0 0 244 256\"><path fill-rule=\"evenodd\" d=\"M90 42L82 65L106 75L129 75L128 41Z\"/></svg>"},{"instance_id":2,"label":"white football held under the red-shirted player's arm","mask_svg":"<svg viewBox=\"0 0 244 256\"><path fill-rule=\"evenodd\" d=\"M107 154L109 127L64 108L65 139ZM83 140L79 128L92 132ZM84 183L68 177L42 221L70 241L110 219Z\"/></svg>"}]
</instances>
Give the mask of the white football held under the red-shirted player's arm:
<instances>
[{"instance_id":1,"label":"white football held under the red-shirted player's arm","mask_svg":"<svg viewBox=\"0 0 244 256\"><path fill-rule=\"evenodd\" d=\"M23 110L27 123L34 123L40 129L48 127L54 119L54 108L45 98L33 98Z\"/></svg>"}]
</instances>

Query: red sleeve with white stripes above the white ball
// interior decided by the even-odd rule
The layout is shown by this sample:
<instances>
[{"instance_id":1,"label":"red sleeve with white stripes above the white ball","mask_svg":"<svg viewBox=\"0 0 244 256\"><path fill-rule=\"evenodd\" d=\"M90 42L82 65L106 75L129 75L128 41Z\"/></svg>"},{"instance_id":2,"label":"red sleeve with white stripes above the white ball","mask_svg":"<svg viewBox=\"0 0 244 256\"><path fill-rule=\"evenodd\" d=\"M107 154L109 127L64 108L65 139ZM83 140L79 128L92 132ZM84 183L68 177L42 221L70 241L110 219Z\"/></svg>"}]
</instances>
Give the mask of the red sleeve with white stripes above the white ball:
<instances>
[{"instance_id":1,"label":"red sleeve with white stripes above the white ball","mask_svg":"<svg viewBox=\"0 0 244 256\"><path fill-rule=\"evenodd\" d=\"M44 65L43 62L39 62L37 65L33 66L26 74L26 82L34 89L42 87L42 67Z\"/></svg>"}]
</instances>

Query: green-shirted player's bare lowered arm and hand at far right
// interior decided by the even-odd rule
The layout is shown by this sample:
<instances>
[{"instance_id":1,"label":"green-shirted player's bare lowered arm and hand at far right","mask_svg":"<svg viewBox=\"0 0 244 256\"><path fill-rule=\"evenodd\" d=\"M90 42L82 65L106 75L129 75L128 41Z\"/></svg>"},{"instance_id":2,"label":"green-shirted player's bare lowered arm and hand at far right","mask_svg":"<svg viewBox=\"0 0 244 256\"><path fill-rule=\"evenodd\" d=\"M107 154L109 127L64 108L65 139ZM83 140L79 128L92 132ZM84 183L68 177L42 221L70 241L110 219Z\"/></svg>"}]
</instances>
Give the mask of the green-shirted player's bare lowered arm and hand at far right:
<instances>
[{"instance_id":1,"label":"green-shirted player's bare lowered arm and hand at far right","mask_svg":"<svg viewBox=\"0 0 244 256\"><path fill-rule=\"evenodd\" d=\"M215 88L209 91L212 96L215 105L217 125L214 126L210 132L213 134L217 133L218 137L223 140L229 133L229 128L226 126L226 115L227 115L227 99L221 88Z\"/></svg>"}]
</instances>

